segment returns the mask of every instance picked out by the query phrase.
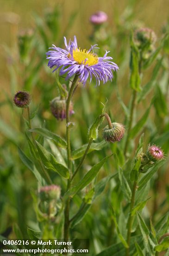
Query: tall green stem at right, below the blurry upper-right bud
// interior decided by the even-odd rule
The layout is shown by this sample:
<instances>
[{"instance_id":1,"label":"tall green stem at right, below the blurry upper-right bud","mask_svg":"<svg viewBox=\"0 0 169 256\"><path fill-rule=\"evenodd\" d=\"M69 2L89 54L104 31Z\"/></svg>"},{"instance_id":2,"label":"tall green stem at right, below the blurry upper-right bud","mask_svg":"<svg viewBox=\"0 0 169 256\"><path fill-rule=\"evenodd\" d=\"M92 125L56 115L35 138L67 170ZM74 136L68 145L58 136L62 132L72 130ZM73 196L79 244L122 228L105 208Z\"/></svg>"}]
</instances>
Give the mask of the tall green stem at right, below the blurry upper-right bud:
<instances>
[{"instance_id":1,"label":"tall green stem at right, below the blurry upper-right bud","mask_svg":"<svg viewBox=\"0 0 169 256\"><path fill-rule=\"evenodd\" d=\"M128 144L129 144L129 137L130 137L130 131L131 131L131 127L132 127L132 121L133 121L133 114L134 114L134 110L136 107L136 98L137 98L137 91L133 90L132 91L132 101L131 101L131 109L130 109L130 119L129 119L129 126L127 129L127 138L125 141L125 151L124 154L126 155L127 149L128 149Z\"/></svg>"}]
</instances>

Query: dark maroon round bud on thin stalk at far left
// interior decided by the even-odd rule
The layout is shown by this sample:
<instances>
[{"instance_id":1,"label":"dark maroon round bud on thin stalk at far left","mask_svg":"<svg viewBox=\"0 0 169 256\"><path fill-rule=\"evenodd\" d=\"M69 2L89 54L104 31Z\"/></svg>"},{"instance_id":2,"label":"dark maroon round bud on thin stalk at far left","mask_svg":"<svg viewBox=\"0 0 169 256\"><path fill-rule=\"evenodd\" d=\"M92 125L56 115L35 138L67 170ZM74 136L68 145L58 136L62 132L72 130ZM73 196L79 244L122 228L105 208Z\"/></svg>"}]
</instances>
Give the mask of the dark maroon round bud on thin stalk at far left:
<instances>
[{"instance_id":1,"label":"dark maroon round bud on thin stalk at far left","mask_svg":"<svg viewBox=\"0 0 169 256\"><path fill-rule=\"evenodd\" d=\"M13 102L19 108L27 108L31 102L31 95L28 92L19 91L14 95Z\"/></svg>"}]
</instances>

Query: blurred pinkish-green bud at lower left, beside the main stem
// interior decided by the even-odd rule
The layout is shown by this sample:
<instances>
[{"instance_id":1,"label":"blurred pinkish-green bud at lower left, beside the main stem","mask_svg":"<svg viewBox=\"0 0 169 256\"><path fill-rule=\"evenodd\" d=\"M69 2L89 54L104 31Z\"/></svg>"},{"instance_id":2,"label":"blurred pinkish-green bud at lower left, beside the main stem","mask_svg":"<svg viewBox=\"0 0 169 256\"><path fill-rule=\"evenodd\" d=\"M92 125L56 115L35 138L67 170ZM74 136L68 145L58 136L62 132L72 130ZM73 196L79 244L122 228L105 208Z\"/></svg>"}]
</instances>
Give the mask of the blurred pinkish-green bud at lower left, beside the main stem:
<instances>
[{"instance_id":1,"label":"blurred pinkish-green bud at lower left, beside the main stem","mask_svg":"<svg viewBox=\"0 0 169 256\"><path fill-rule=\"evenodd\" d=\"M61 188L56 185L41 187L39 195L42 201L57 201L61 195Z\"/></svg>"}]
</instances>

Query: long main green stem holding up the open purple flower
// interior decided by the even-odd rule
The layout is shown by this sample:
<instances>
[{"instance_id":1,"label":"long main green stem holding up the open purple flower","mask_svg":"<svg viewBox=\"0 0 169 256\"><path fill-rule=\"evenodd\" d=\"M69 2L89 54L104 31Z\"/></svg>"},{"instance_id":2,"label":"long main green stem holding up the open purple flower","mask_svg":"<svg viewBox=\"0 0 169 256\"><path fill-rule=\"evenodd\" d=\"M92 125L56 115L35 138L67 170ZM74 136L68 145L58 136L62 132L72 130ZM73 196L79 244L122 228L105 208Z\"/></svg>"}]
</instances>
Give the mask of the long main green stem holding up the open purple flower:
<instances>
[{"instance_id":1,"label":"long main green stem holding up the open purple flower","mask_svg":"<svg viewBox=\"0 0 169 256\"><path fill-rule=\"evenodd\" d=\"M75 88L75 84L78 80L78 75L76 74L74 77L74 80L72 82L72 85L69 90L68 99L66 101L66 141L67 141L67 159L68 159L68 168L70 173L70 178L68 180L67 184L67 190L71 187L71 147L70 147L70 126L68 125L70 121L70 115L69 115L69 105L70 100ZM69 238L69 208L70 208L70 197L67 199L64 209L64 239Z\"/></svg>"}]
</instances>

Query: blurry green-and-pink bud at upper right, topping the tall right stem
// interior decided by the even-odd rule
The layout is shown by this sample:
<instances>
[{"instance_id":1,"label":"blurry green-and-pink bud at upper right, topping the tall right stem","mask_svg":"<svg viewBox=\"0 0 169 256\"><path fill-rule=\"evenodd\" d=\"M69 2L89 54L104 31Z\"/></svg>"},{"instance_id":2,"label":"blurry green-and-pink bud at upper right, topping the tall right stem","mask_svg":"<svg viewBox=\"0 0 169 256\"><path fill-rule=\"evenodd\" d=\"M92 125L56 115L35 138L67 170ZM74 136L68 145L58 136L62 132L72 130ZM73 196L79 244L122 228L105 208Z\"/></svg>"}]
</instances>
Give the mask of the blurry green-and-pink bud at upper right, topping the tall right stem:
<instances>
[{"instance_id":1,"label":"blurry green-and-pink bud at upper right, topping the tall right stem","mask_svg":"<svg viewBox=\"0 0 169 256\"><path fill-rule=\"evenodd\" d=\"M146 44L154 45L156 42L155 32L147 27L137 29L135 31L134 37L139 48Z\"/></svg>"}]
</instances>

